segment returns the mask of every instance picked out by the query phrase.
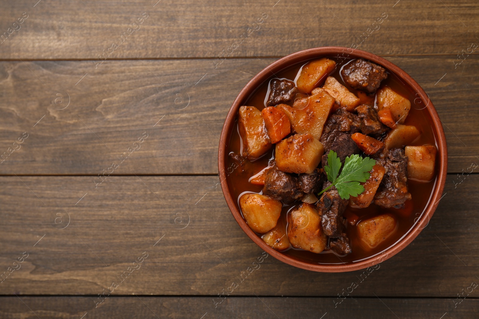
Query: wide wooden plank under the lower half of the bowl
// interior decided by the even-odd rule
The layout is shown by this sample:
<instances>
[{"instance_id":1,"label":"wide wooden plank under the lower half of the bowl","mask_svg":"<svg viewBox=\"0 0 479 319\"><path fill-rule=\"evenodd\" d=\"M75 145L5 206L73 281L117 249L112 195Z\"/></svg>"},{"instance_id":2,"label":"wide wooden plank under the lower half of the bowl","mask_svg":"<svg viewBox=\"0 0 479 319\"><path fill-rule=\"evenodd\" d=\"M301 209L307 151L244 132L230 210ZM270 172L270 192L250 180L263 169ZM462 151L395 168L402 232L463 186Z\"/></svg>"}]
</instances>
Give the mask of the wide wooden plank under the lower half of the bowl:
<instances>
[{"instance_id":1,"label":"wide wooden plank under the lower half of the bowl","mask_svg":"<svg viewBox=\"0 0 479 319\"><path fill-rule=\"evenodd\" d=\"M93 180L0 177L0 270L28 253L0 294L97 296L123 280L114 294L217 296L264 253L233 219L217 176L110 176L96 189ZM370 274L314 273L267 256L231 296L339 301L356 282L349 297L456 298L479 281L479 175L454 180L418 238Z\"/></svg>"}]
</instances>

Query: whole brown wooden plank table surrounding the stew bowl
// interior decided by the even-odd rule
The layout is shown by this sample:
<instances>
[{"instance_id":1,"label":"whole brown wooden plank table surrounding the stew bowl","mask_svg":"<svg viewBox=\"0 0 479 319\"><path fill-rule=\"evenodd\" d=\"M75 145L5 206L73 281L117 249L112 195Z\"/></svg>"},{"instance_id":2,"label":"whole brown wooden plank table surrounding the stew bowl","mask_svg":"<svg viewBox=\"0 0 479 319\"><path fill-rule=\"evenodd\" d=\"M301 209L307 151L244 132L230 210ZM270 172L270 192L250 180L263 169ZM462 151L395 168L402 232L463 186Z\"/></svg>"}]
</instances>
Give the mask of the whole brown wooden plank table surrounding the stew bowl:
<instances>
[{"instance_id":1,"label":"whole brown wooden plank table surrounding the stew bowl","mask_svg":"<svg viewBox=\"0 0 479 319\"><path fill-rule=\"evenodd\" d=\"M478 317L476 1L156 1L2 1L1 318ZM219 186L230 105L276 59L353 43L443 121L433 219L369 274L269 256L218 297L263 253Z\"/></svg>"}]
</instances>

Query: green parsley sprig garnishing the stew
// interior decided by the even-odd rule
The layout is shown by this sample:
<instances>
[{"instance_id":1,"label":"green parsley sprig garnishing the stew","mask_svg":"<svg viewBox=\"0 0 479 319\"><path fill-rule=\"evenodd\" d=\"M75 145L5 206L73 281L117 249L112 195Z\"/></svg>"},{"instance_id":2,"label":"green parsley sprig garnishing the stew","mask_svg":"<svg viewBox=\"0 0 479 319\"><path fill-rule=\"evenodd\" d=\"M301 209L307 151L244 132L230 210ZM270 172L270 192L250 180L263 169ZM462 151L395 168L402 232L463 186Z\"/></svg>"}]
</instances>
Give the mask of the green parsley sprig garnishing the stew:
<instances>
[{"instance_id":1,"label":"green parsley sprig garnishing the stew","mask_svg":"<svg viewBox=\"0 0 479 319\"><path fill-rule=\"evenodd\" d=\"M323 189L318 195L321 195L332 186L335 186L342 199L349 199L350 196L358 196L364 192L364 187L359 184L359 182L365 182L371 176L369 172L375 164L376 161L374 159L369 157L363 158L354 154L346 157L341 175L338 176L342 163L338 154L334 151L330 151L328 154L328 165L324 166L324 171L332 184Z\"/></svg>"}]
</instances>

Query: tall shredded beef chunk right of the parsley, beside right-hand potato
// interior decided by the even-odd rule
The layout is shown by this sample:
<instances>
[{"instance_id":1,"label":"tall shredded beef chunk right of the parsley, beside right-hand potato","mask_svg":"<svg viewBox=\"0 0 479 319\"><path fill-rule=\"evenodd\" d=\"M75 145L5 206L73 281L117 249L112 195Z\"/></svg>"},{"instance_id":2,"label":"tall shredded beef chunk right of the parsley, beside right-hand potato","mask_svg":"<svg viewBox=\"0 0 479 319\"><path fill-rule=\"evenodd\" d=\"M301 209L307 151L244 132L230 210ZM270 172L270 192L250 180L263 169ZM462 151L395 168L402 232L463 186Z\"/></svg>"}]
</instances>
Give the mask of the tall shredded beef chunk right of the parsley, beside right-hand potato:
<instances>
[{"instance_id":1,"label":"tall shredded beef chunk right of the parsley, beside right-hand potato","mask_svg":"<svg viewBox=\"0 0 479 319\"><path fill-rule=\"evenodd\" d=\"M382 207L402 208L411 199L408 192L408 157L404 150L393 148L386 158L379 158L376 164L384 166L386 173L379 185L374 203Z\"/></svg>"}]
</instances>

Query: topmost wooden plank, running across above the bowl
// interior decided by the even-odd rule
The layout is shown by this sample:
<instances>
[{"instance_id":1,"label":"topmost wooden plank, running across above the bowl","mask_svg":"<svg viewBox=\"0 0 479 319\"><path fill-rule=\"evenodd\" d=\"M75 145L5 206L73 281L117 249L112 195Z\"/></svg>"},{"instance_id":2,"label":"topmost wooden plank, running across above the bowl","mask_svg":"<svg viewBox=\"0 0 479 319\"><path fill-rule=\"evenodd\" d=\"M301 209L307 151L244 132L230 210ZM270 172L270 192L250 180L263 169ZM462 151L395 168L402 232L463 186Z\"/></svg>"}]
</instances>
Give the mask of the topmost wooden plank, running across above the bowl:
<instances>
[{"instance_id":1,"label":"topmost wooden plank, running across above the bowl","mask_svg":"<svg viewBox=\"0 0 479 319\"><path fill-rule=\"evenodd\" d=\"M233 43L233 56L252 57L353 43L376 54L458 54L478 41L478 4L468 0L32 2L3 4L0 32L11 34L0 44L1 59L97 59L112 43L118 48L109 58L217 57ZM13 25L23 12L28 18ZM148 18L133 26L144 12Z\"/></svg>"}]
</instances>

